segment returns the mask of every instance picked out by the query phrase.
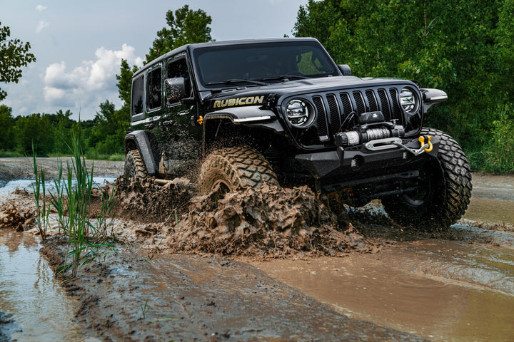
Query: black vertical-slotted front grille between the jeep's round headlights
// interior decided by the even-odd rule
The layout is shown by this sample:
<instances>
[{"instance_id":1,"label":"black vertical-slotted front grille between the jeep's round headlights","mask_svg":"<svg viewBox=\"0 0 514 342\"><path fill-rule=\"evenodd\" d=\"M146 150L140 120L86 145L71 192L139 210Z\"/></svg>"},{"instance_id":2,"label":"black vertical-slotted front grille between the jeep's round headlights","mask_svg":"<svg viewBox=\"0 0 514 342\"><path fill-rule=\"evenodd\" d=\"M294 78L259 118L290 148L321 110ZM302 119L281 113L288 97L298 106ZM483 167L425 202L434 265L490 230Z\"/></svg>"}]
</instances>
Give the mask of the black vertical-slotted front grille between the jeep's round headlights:
<instances>
[{"instance_id":1,"label":"black vertical-slotted front grille between the jeep's round headlights","mask_svg":"<svg viewBox=\"0 0 514 342\"><path fill-rule=\"evenodd\" d=\"M316 124L320 142L330 140L341 128L348 128L342 125L348 125L350 120L346 119L352 112L358 116L381 110L386 121L398 120L398 124L403 124L398 90L393 87L315 94L312 102L318 115Z\"/></svg>"}]
</instances>

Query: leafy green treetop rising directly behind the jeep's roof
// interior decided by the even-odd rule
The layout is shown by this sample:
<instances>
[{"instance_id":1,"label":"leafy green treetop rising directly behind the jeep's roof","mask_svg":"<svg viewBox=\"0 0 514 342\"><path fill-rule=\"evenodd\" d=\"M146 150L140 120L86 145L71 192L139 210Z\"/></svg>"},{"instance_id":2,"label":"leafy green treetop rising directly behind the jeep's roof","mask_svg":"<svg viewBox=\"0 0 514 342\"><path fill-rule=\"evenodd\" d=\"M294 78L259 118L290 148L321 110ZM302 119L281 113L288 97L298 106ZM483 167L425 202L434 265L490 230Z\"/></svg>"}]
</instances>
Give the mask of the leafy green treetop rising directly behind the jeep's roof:
<instances>
[{"instance_id":1,"label":"leafy green treetop rising directly behind the jeep's roof","mask_svg":"<svg viewBox=\"0 0 514 342\"><path fill-rule=\"evenodd\" d=\"M163 27L157 32L157 38L153 41L150 52L146 54L145 64L184 44L211 41L211 22L211 16L205 11L193 11L188 5L174 13L171 10L167 11L166 24L169 27Z\"/></svg>"}]
</instances>

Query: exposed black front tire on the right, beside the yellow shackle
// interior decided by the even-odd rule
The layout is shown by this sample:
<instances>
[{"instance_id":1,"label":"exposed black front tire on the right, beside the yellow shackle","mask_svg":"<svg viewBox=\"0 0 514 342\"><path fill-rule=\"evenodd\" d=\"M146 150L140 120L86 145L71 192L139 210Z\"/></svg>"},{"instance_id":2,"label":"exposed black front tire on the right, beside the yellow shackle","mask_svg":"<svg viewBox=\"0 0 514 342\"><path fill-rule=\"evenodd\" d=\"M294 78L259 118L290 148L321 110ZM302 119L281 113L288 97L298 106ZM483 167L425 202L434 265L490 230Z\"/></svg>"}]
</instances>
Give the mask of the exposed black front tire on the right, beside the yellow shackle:
<instances>
[{"instance_id":1,"label":"exposed black front tire on the right, beside the yellow shackle","mask_svg":"<svg viewBox=\"0 0 514 342\"><path fill-rule=\"evenodd\" d=\"M420 167L424 189L415 195L382 199L385 211L404 227L426 231L448 229L468 209L471 172L463 150L450 135L423 128L421 135L440 140L438 161Z\"/></svg>"}]
</instances>

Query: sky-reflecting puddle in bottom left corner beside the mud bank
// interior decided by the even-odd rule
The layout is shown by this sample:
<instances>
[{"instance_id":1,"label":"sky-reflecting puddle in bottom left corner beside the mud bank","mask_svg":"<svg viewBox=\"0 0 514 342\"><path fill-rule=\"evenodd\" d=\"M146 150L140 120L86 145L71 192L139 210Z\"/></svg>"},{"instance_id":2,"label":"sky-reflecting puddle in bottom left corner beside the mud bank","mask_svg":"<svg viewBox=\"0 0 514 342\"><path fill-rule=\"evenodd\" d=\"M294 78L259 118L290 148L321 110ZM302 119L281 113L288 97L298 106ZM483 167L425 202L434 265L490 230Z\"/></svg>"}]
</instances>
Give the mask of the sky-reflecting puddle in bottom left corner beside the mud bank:
<instances>
[{"instance_id":1,"label":"sky-reflecting puddle in bottom left corner beside the mud bank","mask_svg":"<svg viewBox=\"0 0 514 342\"><path fill-rule=\"evenodd\" d=\"M4 330L18 341L96 341L81 336L73 322L78 304L54 281L39 248L31 234L0 229L0 311L14 318Z\"/></svg>"}]
</instances>

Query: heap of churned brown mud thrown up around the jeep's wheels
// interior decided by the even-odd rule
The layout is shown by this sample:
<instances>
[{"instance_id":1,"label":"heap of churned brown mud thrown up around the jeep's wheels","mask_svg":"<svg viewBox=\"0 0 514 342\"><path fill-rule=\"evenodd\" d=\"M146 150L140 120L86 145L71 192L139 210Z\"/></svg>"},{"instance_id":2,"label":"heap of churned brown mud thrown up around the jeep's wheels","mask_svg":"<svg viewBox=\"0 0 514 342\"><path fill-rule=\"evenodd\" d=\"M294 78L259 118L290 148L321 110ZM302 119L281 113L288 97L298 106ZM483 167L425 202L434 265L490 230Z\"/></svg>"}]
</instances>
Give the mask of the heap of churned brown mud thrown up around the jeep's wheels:
<instances>
[{"instance_id":1,"label":"heap of churned brown mud thrown up around the jeep's wheels","mask_svg":"<svg viewBox=\"0 0 514 342\"><path fill-rule=\"evenodd\" d=\"M166 246L160 250L286 257L378 249L376 241L353 227L341 203L318 197L306 186L263 185L224 196L216 191L194 196L188 182L161 187L151 180L120 180L116 194L123 213L143 222L153 218L160 226L155 234Z\"/></svg>"}]
</instances>

